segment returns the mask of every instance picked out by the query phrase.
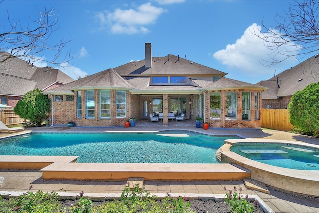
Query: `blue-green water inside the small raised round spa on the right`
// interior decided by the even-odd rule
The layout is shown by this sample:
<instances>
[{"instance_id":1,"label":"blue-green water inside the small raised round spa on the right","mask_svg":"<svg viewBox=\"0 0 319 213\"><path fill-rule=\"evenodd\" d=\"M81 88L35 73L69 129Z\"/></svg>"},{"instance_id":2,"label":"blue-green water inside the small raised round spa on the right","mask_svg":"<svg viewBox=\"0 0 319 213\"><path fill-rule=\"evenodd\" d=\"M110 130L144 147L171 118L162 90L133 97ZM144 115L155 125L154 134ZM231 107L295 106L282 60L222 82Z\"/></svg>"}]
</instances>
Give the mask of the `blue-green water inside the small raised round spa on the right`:
<instances>
[{"instance_id":1,"label":"blue-green water inside the small raised round spa on the right","mask_svg":"<svg viewBox=\"0 0 319 213\"><path fill-rule=\"evenodd\" d=\"M298 170L319 170L319 149L282 143L235 143L230 147L246 158Z\"/></svg>"}]
</instances>

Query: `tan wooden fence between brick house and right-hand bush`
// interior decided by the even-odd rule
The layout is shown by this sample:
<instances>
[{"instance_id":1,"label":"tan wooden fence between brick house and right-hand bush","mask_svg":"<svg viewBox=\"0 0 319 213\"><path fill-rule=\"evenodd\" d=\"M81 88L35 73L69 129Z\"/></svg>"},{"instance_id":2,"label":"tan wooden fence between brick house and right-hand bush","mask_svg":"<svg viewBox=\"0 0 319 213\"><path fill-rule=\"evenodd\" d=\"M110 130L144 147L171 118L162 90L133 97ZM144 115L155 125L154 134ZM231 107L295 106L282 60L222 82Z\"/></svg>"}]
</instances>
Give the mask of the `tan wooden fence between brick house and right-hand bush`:
<instances>
[{"instance_id":1,"label":"tan wooden fence between brick house and right-hand bush","mask_svg":"<svg viewBox=\"0 0 319 213\"><path fill-rule=\"evenodd\" d=\"M262 109L261 126L264 128L290 131L293 126L289 122L287 109Z\"/></svg>"}]
</instances>

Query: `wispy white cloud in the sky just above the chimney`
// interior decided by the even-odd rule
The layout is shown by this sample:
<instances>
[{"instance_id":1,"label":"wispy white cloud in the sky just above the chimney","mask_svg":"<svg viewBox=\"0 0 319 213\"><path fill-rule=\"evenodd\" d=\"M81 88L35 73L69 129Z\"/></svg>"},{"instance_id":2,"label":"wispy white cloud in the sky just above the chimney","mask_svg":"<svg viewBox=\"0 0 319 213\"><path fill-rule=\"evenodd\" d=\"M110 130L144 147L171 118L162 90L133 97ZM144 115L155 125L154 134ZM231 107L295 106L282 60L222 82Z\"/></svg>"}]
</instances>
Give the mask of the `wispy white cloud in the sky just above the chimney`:
<instances>
[{"instance_id":1,"label":"wispy white cloud in the sky just above the chimney","mask_svg":"<svg viewBox=\"0 0 319 213\"><path fill-rule=\"evenodd\" d=\"M98 12L95 17L101 29L110 26L113 34L147 33L148 24L154 24L158 17L166 10L145 3L135 9L115 9L113 12Z\"/></svg>"}]
</instances>

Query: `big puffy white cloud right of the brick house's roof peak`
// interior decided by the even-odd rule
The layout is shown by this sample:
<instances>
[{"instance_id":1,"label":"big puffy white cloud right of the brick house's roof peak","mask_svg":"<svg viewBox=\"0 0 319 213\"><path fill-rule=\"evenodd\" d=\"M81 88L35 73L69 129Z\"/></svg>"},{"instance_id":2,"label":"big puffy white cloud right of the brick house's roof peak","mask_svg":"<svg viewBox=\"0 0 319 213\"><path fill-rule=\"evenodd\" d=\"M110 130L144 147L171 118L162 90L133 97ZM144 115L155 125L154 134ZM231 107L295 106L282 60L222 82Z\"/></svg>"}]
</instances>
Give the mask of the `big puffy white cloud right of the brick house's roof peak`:
<instances>
[{"instance_id":1,"label":"big puffy white cloud right of the brick house's roof peak","mask_svg":"<svg viewBox=\"0 0 319 213\"><path fill-rule=\"evenodd\" d=\"M249 26L241 38L237 39L234 44L228 44L225 49L219 50L213 54L213 57L227 65L229 68L235 68L242 74L250 76L260 76L268 74L271 70L281 70L290 67L293 59L285 60L275 66L265 66L265 61L270 61L275 57L274 50L271 50L264 43L264 40L258 38L252 32L261 33L261 26L256 23ZM263 34L267 36L266 33ZM300 50L296 45L282 46L289 52ZM287 50L286 50L287 51ZM277 54L277 60L283 60L285 57Z\"/></svg>"}]
</instances>

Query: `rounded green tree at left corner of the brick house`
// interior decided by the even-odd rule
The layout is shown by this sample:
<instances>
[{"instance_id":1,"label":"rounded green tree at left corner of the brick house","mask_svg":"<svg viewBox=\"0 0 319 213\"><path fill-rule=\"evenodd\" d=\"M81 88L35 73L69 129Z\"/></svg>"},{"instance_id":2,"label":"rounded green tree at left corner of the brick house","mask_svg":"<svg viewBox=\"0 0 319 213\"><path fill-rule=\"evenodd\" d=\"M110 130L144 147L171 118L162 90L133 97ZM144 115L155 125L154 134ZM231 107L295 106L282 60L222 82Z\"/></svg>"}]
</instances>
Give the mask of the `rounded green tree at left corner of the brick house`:
<instances>
[{"instance_id":1,"label":"rounded green tree at left corner of the brick house","mask_svg":"<svg viewBox=\"0 0 319 213\"><path fill-rule=\"evenodd\" d=\"M15 114L31 122L41 124L50 113L50 99L42 90L34 89L25 93L23 98L14 107Z\"/></svg>"}]
</instances>

